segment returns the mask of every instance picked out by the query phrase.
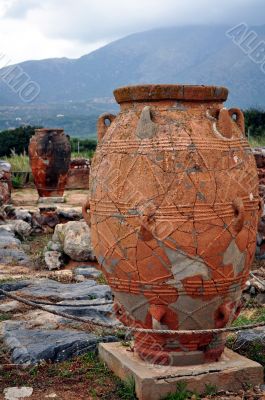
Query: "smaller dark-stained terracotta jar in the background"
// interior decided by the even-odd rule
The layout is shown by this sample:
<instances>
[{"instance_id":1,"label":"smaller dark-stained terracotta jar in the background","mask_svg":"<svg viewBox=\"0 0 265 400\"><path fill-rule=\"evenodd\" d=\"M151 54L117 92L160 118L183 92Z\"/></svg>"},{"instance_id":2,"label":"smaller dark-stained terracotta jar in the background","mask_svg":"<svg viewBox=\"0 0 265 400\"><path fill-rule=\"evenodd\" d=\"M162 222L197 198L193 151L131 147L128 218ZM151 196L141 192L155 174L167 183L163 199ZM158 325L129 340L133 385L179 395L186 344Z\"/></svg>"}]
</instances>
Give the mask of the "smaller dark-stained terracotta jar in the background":
<instances>
[{"instance_id":1,"label":"smaller dark-stained terracotta jar in the background","mask_svg":"<svg viewBox=\"0 0 265 400\"><path fill-rule=\"evenodd\" d=\"M63 129L36 129L29 159L39 196L63 196L71 159L70 141Z\"/></svg>"}]
</instances>

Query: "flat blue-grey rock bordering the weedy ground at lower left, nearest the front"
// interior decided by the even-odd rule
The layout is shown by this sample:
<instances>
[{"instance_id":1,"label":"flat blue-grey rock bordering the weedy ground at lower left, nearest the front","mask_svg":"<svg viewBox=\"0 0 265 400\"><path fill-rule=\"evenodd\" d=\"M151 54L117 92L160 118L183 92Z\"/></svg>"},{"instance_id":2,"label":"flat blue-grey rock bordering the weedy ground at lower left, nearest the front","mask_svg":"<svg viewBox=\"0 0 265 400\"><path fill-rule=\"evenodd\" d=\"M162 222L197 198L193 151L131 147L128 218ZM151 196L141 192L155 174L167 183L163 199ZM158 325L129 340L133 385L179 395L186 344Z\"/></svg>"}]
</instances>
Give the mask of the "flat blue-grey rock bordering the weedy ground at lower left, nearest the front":
<instances>
[{"instance_id":1,"label":"flat blue-grey rock bordering the weedy ground at lower left, nearest the front","mask_svg":"<svg viewBox=\"0 0 265 400\"><path fill-rule=\"evenodd\" d=\"M16 364L59 362L88 351L96 351L99 342L117 341L113 336L97 337L76 330L29 330L21 322L6 322L3 340Z\"/></svg>"}]
</instances>

